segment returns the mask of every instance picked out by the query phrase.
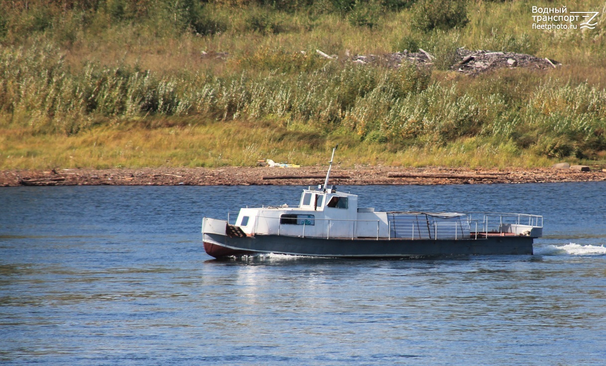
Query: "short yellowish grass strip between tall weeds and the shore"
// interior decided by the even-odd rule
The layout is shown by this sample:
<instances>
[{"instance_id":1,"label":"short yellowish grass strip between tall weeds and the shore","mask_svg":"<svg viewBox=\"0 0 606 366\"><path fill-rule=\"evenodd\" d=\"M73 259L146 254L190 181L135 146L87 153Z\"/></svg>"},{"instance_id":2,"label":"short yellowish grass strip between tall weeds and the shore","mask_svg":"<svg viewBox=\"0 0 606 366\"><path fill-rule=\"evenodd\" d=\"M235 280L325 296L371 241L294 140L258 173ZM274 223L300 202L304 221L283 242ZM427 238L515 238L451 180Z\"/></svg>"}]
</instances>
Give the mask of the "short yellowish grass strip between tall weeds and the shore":
<instances>
[{"instance_id":1,"label":"short yellowish grass strip between tall weeds and the shore","mask_svg":"<svg viewBox=\"0 0 606 366\"><path fill-rule=\"evenodd\" d=\"M320 136L272 125L259 127L248 121L155 128L130 122L61 138L39 135L26 128L2 128L0 136L0 169L3 170L251 166L265 158L307 166L325 165L327 151L337 142L340 143L338 161L343 167L506 168L548 166L559 161L520 151L511 141L498 144L490 139L462 138L445 146L391 145L385 149L384 144L350 144L350 140L338 135ZM576 158L567 161L588 163ZM597 164L606 164L606 156L602 155Z\"/></svg>"}]
</instances>

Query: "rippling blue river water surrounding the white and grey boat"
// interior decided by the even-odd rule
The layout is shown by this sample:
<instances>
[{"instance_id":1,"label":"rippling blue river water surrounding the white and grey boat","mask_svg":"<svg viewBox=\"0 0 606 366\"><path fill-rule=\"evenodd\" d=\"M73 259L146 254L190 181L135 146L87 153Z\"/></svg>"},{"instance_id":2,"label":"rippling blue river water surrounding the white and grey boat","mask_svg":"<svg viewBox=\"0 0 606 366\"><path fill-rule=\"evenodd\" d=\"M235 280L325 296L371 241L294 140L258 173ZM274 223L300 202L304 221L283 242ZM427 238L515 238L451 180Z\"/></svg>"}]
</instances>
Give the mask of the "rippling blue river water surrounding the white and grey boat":
<instances>
[{"instance_id":1,"label":"rippling blue river water surrounding the white and grey boat","mask_svg":"<svg viewBox=\"0 0 606 366\"><path fill-rule=\"evenodd\" d=\"M3 365L603 365L606 182L356 186L544 216L534 255L216 261L202 216L301 187L0 189Z\"/></svg>"}]
</instances>

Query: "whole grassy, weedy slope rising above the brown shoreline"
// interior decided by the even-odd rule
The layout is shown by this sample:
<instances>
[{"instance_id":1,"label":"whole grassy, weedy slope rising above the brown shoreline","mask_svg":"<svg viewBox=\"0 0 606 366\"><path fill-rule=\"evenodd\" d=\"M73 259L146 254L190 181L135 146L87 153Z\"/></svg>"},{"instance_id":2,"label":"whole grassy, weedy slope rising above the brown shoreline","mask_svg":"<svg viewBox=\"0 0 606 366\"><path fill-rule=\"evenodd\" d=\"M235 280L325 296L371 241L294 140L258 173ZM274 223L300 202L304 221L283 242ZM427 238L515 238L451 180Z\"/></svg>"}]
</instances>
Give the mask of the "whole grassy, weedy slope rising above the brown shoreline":
<instances>
[{"instance_id":1,"label":"whole grassy, weedy slope rising above the brown shoreline","mask_svg":"<svg viewBox=\"0 0 606 366\"><path fill-rule=\"evenodd\" d=\"M603 6L578 1L568 11ZM253 165L261 158L308 165L324 162L336 142L348 165L605 162L602 21L592 31L538 31L523 2L473 2L465 27L424 33L410 27L414 9L376 15L370 28L336 12L207 5L208 18L225 27L212 36L178 26L177 13L115 21L103 8L55 9L44 29L25 32L36 24L35 10L5 12L0 168ZM468 78L344 67L315 56L316 48L341 59L346 50L381 54L410 41L445 64L464 46L565 65Z\"/></svg>"}]
</instances>

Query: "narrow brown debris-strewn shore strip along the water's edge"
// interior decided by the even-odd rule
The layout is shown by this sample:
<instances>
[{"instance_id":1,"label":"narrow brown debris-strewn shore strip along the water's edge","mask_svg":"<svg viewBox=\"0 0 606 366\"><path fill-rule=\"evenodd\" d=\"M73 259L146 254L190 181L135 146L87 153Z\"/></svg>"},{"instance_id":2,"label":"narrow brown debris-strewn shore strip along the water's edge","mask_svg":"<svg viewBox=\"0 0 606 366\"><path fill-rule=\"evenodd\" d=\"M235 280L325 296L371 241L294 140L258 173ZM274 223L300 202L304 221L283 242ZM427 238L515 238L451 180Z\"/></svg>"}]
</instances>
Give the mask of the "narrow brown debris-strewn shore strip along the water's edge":
<instances>
[{"instance_id":1,"label":"narrow brown debris-strewn shore strip along the water's edge","mask_svg":"<svg viewBox=\"0 0 606 366\"><path fill-rule=\"evenodd\" d=\"M606 181L591 171L554 168L468 169L445 167L333 167L331 184L492 184ZM0 186L19 185L315 185L327 167L113 168L0 171ZM288 176L290 178L285 179Z\"/></svg>"}]
</instances>

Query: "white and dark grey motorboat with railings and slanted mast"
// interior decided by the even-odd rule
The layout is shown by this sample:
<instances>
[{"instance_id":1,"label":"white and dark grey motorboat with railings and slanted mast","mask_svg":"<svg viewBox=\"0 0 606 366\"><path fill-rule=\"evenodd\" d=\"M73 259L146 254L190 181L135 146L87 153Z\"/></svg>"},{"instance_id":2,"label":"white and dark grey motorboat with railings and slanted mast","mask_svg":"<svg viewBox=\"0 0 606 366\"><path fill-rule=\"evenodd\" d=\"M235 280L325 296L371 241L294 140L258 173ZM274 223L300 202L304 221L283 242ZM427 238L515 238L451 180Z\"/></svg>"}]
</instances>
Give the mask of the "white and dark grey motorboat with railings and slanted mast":
<instances>
[{"instance_id":1,"label":"white and dark grey motorboat with railings and slanted mast","mask_svg":"<svg viewBox=\"0 0 606 366\"><path fill-rule=\"evenodd\" d=\"M334 258L532 255L543 217L522 213L375 211L358 195L324 184L303 189L299 205L240 208L235 222L203 218L202 241L215 258L259 254Z\"/></svg>"}]
</instances>

